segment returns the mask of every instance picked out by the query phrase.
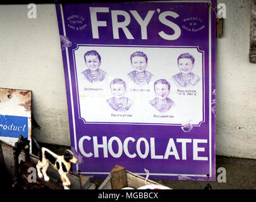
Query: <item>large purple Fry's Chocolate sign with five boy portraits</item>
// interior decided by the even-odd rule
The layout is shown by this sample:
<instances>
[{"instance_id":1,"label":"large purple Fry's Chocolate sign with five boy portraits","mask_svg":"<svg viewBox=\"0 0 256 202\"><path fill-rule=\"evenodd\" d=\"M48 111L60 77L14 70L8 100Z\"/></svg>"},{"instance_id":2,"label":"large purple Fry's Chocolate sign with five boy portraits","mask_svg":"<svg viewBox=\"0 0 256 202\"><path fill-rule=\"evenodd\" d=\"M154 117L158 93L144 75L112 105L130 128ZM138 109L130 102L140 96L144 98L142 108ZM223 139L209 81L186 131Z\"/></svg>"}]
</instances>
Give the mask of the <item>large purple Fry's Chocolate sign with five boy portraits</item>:
<instances>
[{"instance_id":1,"label":"large purple Fry's Chocolate sign with five boy portraits","mask_svg":"<svg viewBox=\"0 0 256 202\"><path fill-rule=\"evenodd\" d=\"M215 181L215 5L56 5L76 172Z\"/></svg>"}]
</instances>

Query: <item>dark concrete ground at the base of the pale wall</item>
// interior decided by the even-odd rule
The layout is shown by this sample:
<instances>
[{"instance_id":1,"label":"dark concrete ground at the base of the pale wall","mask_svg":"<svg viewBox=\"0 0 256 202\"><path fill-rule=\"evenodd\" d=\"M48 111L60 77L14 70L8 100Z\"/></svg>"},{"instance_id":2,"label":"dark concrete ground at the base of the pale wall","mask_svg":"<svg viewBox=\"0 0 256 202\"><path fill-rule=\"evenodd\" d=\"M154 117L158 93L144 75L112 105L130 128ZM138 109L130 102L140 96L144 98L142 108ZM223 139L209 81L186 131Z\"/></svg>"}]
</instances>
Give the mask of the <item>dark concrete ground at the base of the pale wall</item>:
<instances>
[{"instance_id":1,"label":"dark concrete ground at the base of the pale wall","mask_svg":"<svg viewBox=\"0 0 256 202\"><path fill-rule=\"evenodd\" d=\"M56 153L63 153L66 147L55 145L40 145L46 146ZM33 147L32 147L33 148ZM34 153L34 151L32 151ZM173 189L204 189L209 183L212 189L256 189L256 160L216 156L216 170L219 167L226 169L226 182L204 182L204 181L157 181L164 186ZM0 148L0 174L4 173L3 157L1 157ZM216 172L216 176L219 173ZM217 179L217 177L216 177ZM3 175L2 182L9 187L8 176ZM101 184L104 179L94 178L92 181ZM3 185L3 183L1 183Z\"/></svg>"}]
</instances>

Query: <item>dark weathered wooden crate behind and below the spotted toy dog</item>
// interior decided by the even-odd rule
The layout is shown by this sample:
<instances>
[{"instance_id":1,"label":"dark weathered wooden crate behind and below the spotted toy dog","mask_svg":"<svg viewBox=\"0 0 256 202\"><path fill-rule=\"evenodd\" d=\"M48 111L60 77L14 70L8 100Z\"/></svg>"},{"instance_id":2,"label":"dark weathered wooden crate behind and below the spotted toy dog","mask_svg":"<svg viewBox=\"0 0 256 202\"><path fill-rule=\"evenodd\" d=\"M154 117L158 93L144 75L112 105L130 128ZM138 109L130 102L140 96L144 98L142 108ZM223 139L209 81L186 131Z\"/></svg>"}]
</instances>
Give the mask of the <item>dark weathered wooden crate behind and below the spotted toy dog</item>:
<instances>
[{"instance_id":1,"label":"dark weathered wooden crate behind and below the spotted toy dog","mask_svg":"<svg viewBox=\"0 0 256 202\"><path fill-rule=\"evenodd\" d=\"M13 146L9 143L0 140L0 152L2 154L0 156L4 159L4 164L6 169L8 170L9 176L12 178L15 177L15 159L13 157ZM25 152L21 151L19 162L25 162ZM34 154L30 154L30 163L27 166L33 167L33 165L37 165L39 161L39 157ZM50 177L50 181L46 182L43 179L37 177L37 181L46 184L46 186L50 187L51 189L63 189L61 184L61 177L57 170L55 170L51 165L49 165L47 169L47 175ZM70 189L97 189L97 184L91 182L90 179L84 175L77 175L73 172L70 172L68 175L70 179L71 186ZM26 177L26 175L24 176Z\"/></svg>"}]
</instances>

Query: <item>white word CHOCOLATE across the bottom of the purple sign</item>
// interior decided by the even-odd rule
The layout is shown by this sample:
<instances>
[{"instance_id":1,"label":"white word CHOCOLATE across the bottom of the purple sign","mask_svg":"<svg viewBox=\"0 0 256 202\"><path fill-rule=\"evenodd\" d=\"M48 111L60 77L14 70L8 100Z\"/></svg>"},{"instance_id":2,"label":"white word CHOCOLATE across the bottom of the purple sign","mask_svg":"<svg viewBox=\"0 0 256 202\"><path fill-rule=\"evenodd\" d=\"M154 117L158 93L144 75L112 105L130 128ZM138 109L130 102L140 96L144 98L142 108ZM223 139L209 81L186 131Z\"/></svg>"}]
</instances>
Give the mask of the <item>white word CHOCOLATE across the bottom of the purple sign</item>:
<instances>
[{"instance_id":1,"label":"white word CHOCOLATE across the bottom of the purple sign","mask_svg":"<svg viewBox=\"0 0 256 202\"><path fill-rule=\"evenodd\" d=\"M157 151L158 152L162 151L162 153L156 154L157 152L155 149L156 148L159 149L159 146L162 147L163 145L159 145L155 148L156 146L155 138L150 138L149 140L150 145L149 145L149 141L146 138L138 138L138 140L135 140L135 138L127 137L125 138L124 141L121 141L116 136L111 137L109 140L107 140L106 136L102 136L102 138L93 136L92 143L90 143L90 140L91 138L89 136L83 136L78 141L78 148L84 157L92 157L94 155L95 158L99 158L99 148L102 148L104 158L108 157L108 152L112 157L119 158L123 155L123 151L124 151L126 157L128 158L135 158L137 157L137 155L140 158L147 158L150 152L151 159L168 159L169 156L172 155L176 160L180 160L180 156L182 157L182 160L187 160L188 157L186 155L186 150L188 148L188 143L192 143L192 139L188 139L188 138L178 138L178 139L169 138L168 145L166 146L166 150L162 151L162 148L161 148L161 150L157 150ZM102 143L99 144L98 141L101 141ZM116 143L114 143L114 141L116 141ZM136 146L135 146L135 143L136 143ZM177 150L176 143L181 143L181 149L179 150L179 152ZM204 147L198 147L198 143L207 143L207 140L202 140L202 139L193 140L193 144L190 145L190 147L193 146L193 157L191 158L193 158L193 160L208 160L208 157L200 157L198 155L199 151L205 151ZM93 148L92 148L92 145L93 145ZM85 148L87 148L87 150L85 150ZM178 148L180 148L180 146ZM91 151L93 150L94 153L90 152L89 149Z\"/></svg>"}]
</instances>

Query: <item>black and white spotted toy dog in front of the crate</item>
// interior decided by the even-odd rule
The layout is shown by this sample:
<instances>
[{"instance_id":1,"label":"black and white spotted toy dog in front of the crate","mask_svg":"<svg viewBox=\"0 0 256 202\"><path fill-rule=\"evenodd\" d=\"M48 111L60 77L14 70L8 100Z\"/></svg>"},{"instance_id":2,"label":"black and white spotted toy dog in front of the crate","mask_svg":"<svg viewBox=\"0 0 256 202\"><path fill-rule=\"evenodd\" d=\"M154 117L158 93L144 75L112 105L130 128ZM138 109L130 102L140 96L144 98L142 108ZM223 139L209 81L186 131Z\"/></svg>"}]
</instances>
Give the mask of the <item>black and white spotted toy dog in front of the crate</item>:
<instances>
[{"instance_id":1,"label":"black and white spotted toy dog in front of the crate","mask_svg":"<svg viewBox=\"0 0 256 202\"><path fill-rule=\"evenodd\" d=\"M65 150L62 156L56 155L51 150L42 147L39 151L39 162L37 162L37 174L40 178L44 177L45 181L49 181L49 176L46 174L46 170L49 163L58 170L63 182L64 189L70 189L70 180L66 176L70 171L71 163L77 163L74 153L71 150ZM41 172L42 170L42 172Z\"/></svg>"}]
</instances>

